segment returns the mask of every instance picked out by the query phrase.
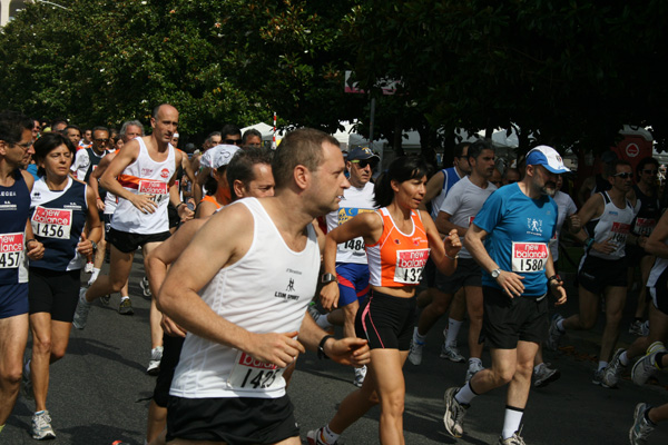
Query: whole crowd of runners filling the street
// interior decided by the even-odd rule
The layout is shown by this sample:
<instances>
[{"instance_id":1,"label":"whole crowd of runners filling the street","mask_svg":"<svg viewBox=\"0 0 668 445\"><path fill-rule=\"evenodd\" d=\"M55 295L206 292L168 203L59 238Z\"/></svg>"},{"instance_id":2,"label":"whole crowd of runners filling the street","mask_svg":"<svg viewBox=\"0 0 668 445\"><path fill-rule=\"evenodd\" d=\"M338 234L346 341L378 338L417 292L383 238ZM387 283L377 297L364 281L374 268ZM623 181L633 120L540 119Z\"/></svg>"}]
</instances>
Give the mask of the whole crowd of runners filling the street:
<instances>
[{"instance_id":1,"label":"whole crowd of runners filling the street","mask_svg":"<svg viewBox=\"0 0 668 445\"><path fill-rule=\"evenodd\" d=\"M32 437L56 437L50 364L96 300L120 293L118 313L134 314L128 278L139 249L151 297L146 372L157 376L147 444L299 444L287 387L306 349L351 366L357 386L307 432L311 445L336 444L375 405L380 442L403 444L402 369L406 359L421 365L445 314L440 355L468 364L444 394L453 437L477 396L507 385L499 444L524 444L531 386L560 377L542 348L591 329L600 303L593 384L616 387L626 370L642 385L668 366L668 216L656 159L633 171L606 154L578 209L560 190L569 169L548 146L504 171L484 139L459 145L453 166L433 175L418 157L380 171L369 148L344 154L312 129L271 150L257 131L228 125L186 154L178 120L163 103L145 136L138 120L119 131L63 120L47 129L0 112L0 441L21 387L35 400ZM578 295L568 296L556 267L567 231L584 248ZM629 329L638 338L616 348L636 265L642 290ZM578 313L550 319L549 305L567 298L579 298ZM644 444L668 404L639 403L632 415L629 441Z\"/></svg>"}]
</instances>

